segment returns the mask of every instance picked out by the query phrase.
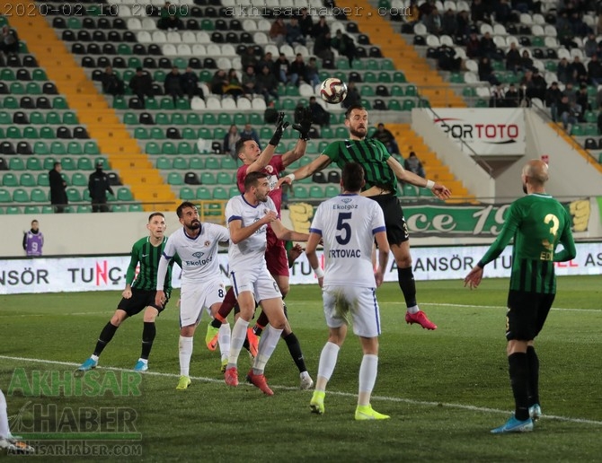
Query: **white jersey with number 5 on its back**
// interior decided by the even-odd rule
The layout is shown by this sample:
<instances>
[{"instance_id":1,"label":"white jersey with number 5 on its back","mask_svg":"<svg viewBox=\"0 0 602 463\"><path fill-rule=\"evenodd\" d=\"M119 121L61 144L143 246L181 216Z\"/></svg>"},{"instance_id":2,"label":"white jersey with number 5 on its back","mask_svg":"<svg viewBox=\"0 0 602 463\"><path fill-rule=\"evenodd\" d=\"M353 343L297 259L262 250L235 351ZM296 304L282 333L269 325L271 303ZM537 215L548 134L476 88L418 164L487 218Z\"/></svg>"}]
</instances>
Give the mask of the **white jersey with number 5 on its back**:
<instances>
[{"instance_id":1,"label":"white jersey with number 5 on its back","mask_svg":"<svg viewBox=\"0 0 602 463\"><path fill-rule=\"evenodd\" d=\"M376 287L372 244L385 231L380 206L367 197L339 195L318 206L310 232L322 236L324 286Z\"/></svg>"}]
</instances>

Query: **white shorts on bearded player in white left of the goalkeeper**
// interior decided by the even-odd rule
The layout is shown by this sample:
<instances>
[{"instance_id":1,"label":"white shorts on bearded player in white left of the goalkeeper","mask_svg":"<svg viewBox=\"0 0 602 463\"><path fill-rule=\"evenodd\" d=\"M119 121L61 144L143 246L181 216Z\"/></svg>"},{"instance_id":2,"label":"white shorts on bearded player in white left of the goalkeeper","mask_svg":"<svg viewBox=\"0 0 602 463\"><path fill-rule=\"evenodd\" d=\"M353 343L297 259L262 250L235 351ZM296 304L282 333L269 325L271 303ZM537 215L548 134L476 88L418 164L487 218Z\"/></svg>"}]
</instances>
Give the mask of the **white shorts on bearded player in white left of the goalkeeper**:
<instances>
[{"instance_id":1,"label":"white shorts on bearded player in white left of the goalkeeper","mask_svg":"<svg viewBox=\"0 0 602 463\"><path fill-rule=\"evenodd\" d=\"M180 327L199 323L202 310L211 316L211 306L224 301L226 286L220 280L206 284L182 284L180 292Z\"/></svg>"}]
</instances>

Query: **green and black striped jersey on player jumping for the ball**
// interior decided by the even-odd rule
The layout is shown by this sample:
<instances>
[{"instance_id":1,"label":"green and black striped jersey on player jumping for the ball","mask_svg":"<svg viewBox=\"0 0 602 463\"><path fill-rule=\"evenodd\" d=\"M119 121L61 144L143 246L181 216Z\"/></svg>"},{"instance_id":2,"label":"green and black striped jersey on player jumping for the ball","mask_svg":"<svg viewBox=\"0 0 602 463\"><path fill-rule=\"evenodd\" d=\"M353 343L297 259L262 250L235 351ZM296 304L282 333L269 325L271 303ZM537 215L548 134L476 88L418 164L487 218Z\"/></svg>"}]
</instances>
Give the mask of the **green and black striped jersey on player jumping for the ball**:
<instances>
[{"instance_id":1,"label":"green and black striped jersey on player jumping for the ball","mask_svg":"<svg viewBox=\"0 0 602 463\"><path fill-rule=\"evenodd\" d=\"M341 168L348 162L358 162L366 171L364 189L379 187L393 192L397 191L397 178L386 160L391 157L386 146L374 138L364 140L342 140L326 146L323 154Z\"/></svg>"}]
</instances>

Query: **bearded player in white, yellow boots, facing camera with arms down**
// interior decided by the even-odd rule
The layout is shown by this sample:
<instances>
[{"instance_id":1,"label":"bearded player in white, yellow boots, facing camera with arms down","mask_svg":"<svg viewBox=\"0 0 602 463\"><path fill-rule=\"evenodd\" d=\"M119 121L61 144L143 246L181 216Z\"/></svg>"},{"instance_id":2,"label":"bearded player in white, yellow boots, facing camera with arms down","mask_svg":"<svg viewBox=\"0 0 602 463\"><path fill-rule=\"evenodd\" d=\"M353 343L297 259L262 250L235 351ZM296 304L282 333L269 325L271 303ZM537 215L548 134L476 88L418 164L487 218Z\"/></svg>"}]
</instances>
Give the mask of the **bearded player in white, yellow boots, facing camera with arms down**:
<instances>
[{"instance_id":1,"label":"bearded player in white, yellow boots, facing camera with arms down","mask_svg":"<svg viewBox=\"0 0 602 463\"><path fill-rule=\"evenodd\" d=\"M176 389L182 390L190 385L192 342L202 310L207 310L213 317L226 294L219 274L217 246L220 243L226 244L230 235L226 227L215 223L200 223L199 211L192 203L181 203L176 213L183 227L174 231L165 244L157 270L157 281L164 281L167 265L177 254L181 258L181 291L180 380ZM164 300L163 286L157 285L155 301L163 303ZM225 362L230 350L230 325L227 323L219 329L219 349L222 361Z\"/></svg>"}]
</instances>

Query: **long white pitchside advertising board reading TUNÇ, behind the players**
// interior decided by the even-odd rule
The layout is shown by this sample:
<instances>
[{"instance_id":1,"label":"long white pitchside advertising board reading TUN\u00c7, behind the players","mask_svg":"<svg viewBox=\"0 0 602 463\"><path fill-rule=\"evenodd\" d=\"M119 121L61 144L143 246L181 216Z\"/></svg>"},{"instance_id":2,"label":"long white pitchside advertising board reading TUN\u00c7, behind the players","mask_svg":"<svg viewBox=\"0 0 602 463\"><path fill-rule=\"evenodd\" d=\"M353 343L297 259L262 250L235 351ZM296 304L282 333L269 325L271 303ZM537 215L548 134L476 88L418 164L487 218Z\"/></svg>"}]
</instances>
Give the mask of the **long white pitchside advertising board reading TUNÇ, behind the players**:
<instances>
[{"instance_id":1,"label":"long white pitchside advertising board reading TUN\u00c7, behind the players","mask_svg":"<svg viewBox=\"0 0 602 463\"><path fill-rule=\"evenodd\" d=\"M413 270L417 280L463 280L488 246L412 248ZM512 248L509 246L485 267L485 277L509 276ZM318 253L322 266L323 255ZM106 258L23 258L0 261L0 294L72 293L79 291L122 291L126 282L129 256ZM227 254L219 254L224 284ZM557 275L601 275L602 243L577 243L577 258L556 264ZM397 281L393 255L385 281ZM173 286L180 287L181 269L173 267ZM291 284L317 284L305 254L291 268Z\"/></svg>"}]
</instances>

